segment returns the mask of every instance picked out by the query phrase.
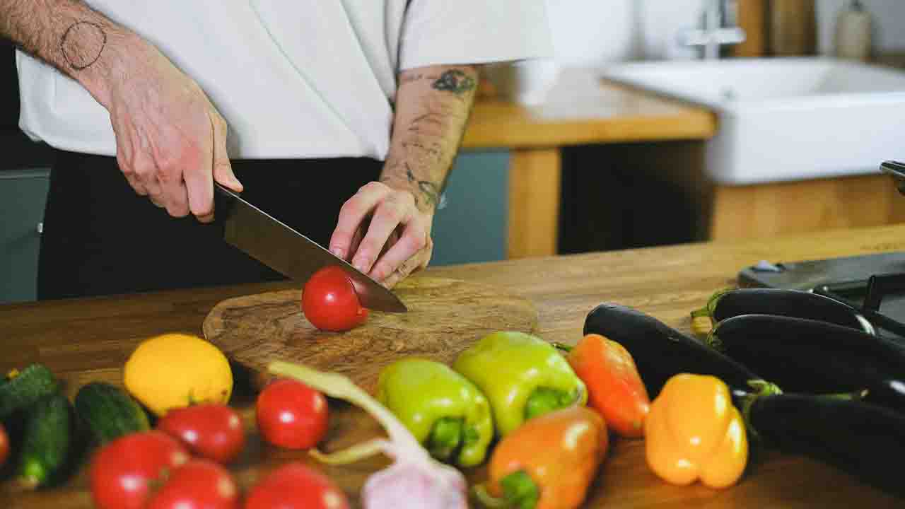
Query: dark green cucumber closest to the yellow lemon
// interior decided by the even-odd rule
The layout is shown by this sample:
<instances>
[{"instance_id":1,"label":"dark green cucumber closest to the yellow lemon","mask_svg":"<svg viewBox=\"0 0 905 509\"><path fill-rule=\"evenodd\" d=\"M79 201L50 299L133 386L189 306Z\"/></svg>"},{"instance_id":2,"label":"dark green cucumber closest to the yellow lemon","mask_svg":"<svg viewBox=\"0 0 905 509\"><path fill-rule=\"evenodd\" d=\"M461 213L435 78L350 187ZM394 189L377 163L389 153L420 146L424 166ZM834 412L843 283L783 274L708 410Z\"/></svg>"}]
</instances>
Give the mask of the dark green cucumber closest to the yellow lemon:
<instances>
[{"instance_id":1,"label":"dark green cucumber closest to the yellow lemon","mask_svg":"<svg viewBox=\"0 0 905 509\"><path fill-rule=\"evenodd\" d=\"M138 402L107 382L81 386L75 395L75 413L99 444L150 429L148 414Z\"/></svg>"}]
</instances>

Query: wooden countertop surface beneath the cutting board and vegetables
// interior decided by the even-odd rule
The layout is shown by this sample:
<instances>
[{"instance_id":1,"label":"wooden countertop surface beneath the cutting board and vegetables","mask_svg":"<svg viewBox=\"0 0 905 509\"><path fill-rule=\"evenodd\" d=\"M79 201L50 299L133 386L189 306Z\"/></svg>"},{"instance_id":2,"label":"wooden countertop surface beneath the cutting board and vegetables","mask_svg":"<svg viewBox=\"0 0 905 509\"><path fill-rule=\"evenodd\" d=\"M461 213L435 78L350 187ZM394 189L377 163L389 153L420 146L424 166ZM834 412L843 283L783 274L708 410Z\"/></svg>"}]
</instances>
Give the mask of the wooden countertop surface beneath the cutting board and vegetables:
<instances>
[{"instance_id":1,"label":"wooden countertop surface beneath the cutting board and vegetables","mask_svg":"<svg viewBox=\"0 0 905 509\"><path fill-rule=\"evenodd\" d=\"M692 309L706 302L714 290L734 283L739 269L760 260L788 262L901 250L905 250L905 227L887 226L774 240L440 267L426 274L495 284L525 295L538 307L540 336L574 343L580 338L586 313L602 302L633 306L688 331ZM215 303L287 286L271 283L0 306L0 370L41 361L70 382L70 391L88 379L119 381L123 361L142 338L167 331L200 333ZM242 409L250 435L243 456L232 466L239 484L251 485L290 459L310 461L303 452L262 445L253 432L252 396L242 387L237 386L233 404ZM328 449L379 433L375 423L354 408L339 406L332 419L325 444ZM384 459L375 459L318 468L355 497L367 475L385 465ZM481 470L470 473L472 480L482 475ZM643 442L629 440L614 441L592 490L588 507L902 505L901 500L862 485L834 467L773 451L760 456L740 484L727 490L666 485L646 466ZM4 485L0 487L0 507L90 507L84 468L68 484L43 493L11 495Z\"/></svg>"}]
</instances>

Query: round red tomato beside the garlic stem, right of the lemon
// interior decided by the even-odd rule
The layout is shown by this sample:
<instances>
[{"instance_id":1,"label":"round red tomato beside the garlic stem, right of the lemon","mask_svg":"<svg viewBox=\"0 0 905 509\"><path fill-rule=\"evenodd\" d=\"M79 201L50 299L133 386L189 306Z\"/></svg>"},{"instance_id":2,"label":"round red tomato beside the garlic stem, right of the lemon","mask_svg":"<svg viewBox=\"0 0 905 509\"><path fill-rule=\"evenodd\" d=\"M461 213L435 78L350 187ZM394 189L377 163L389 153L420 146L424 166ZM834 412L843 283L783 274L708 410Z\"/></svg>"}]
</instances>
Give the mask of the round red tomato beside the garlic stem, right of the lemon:
<instances>
[{"instance_id":1,"label":"round red tomato beside the garlic stem, right of the lemon","mask_svg":"<svg viewBox=\"0 0 905 509\"><path fill-rule=\"evenodd\" d=\"M327 433L327 399L298 380L272 381L258 395L254 409L258 429L274 446L307 449Z\"/></svg>"}]
</instances>

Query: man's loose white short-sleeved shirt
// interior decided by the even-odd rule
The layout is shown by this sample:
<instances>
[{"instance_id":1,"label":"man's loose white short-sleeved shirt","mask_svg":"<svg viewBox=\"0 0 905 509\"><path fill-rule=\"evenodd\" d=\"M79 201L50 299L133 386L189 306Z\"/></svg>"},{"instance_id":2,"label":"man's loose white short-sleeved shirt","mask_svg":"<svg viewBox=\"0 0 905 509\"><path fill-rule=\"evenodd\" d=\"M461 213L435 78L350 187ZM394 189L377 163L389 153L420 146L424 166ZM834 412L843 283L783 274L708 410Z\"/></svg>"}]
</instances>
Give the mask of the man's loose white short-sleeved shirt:
<instances>
[{"instance_id":1,"label":"man's loose white short-sleeved shirt","mask_svg":"<svg viewBox=\"0 0 905 509\"><path fill-rule=\"evenodd\" d=\"M544 0L89 0L198 82L231 158L383 159L396 74L548 57ZM19 126L113 156L110 116L78 82L16 54Z\"/></svg>"}]
</instances>

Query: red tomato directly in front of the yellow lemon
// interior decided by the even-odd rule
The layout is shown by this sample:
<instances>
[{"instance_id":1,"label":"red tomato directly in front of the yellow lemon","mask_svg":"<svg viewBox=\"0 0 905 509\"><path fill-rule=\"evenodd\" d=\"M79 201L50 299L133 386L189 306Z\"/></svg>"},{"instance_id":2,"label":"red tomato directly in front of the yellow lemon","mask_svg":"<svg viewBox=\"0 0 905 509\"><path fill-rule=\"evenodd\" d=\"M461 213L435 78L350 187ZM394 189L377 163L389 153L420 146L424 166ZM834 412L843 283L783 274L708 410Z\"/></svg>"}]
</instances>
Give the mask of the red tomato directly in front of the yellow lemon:
<instances>
[{"instance_id":1,"label":"red tomato directly in front of the yellow lemon","mask_svg":"<svg viewBox=\"0 0 905 509\"><path fill-rule=\"evenodd\" d=\"M195 455L229 463L245 445L242 419L233 408L205 403L167 412L157 428L182 440Z\"/></svg>"}]
</instances>

